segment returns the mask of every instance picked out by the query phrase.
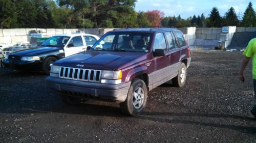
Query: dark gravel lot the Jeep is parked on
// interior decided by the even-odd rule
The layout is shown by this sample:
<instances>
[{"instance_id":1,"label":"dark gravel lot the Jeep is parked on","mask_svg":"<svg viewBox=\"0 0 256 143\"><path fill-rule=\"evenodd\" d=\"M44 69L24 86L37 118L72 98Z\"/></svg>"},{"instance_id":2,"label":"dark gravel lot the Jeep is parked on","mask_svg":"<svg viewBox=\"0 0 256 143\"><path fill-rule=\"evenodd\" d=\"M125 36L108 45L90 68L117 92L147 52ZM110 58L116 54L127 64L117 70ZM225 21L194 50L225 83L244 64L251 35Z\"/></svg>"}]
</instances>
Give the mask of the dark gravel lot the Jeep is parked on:
<instances>
[{"instance_id":1,"label":"dark gravel lot the Jeep is parked on","mask_svg":"<svg viewBox=\"0 0 256 143\"><path fill-rule=\"evenodd\" d=\"M0 70L0 142L256 142L251 68L240 82L241 58L194 51L186 86L154 89L137 117L118 103L67 106L45 75Z\"/></svg>"}]
</instances>

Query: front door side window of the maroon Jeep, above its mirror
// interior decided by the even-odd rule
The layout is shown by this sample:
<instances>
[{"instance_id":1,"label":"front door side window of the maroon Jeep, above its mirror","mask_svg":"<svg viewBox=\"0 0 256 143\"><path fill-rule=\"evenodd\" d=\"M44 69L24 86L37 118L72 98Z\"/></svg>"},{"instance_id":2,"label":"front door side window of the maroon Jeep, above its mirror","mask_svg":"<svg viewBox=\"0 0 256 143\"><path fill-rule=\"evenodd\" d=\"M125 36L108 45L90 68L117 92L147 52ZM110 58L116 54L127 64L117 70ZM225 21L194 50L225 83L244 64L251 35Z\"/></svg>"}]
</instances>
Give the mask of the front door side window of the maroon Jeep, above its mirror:
<instances>
[{"instance_id":1,"label":"front door side window of the maroon Jeep, above its mirror","mask_svg":"<svg viewBox=\"0 0 256 143\"><path fill-rule=\"evenodd\" d=\"M164 49L165 51L167 51L167 47L166 47L165 38L164 38L163 33L157 33L156 34L153 49L154 49L154 51L155 51L155 49Z\"/></svg>"}]
</instances>

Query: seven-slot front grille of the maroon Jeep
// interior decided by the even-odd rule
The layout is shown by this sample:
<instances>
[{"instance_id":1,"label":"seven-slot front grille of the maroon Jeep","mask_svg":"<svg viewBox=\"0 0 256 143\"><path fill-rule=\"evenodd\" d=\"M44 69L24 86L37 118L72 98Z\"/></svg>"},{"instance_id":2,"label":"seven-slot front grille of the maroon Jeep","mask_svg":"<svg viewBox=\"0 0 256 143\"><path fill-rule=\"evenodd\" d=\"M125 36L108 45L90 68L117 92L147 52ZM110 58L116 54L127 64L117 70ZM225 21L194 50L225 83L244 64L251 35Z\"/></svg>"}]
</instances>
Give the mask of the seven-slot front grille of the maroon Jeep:
<instances>
[{"instance_id":1,"label":"seven-slot front grille of the maroon Jeep","mask_svg":"<svg viewBox=\"0 0 256 143\"><path fill-rule=\"evenodd\" d=\"M59 77L89 82L100 82L101 70L60 67Z\"/></svg>"}]
</instances>

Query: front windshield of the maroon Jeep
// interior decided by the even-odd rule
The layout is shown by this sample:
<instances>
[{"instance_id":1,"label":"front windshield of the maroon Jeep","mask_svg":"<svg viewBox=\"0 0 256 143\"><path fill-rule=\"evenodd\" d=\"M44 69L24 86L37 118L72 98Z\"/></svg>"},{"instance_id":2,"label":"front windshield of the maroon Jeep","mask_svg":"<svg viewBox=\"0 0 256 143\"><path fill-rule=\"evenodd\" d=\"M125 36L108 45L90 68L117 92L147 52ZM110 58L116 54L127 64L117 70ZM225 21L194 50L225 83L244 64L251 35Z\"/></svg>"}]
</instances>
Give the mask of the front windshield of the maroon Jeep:
<instances>
[{"instance_id":1,"label":"front windshield of the maroon Jeep","mask_svg":"<svg viewBox=\"0 0 256 143\"><path fill-rule=\"evenodd\" d=\"M151 35L140 32L112 32L100 38L92 49L148 52Z\"/></svg>"}]
</instances>

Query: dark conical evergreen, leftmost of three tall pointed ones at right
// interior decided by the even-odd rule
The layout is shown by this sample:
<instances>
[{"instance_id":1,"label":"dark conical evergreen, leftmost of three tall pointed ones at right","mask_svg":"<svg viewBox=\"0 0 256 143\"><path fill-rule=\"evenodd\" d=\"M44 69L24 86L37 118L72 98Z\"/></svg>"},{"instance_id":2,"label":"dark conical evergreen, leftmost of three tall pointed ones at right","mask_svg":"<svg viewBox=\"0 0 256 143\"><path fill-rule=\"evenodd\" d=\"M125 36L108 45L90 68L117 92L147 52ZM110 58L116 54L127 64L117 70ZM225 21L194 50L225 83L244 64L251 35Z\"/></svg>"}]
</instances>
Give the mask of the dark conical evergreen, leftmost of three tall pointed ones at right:
<instances>
[{"instance_id":1,"label":"dark conical evergreen, leftmost of three tall pointed ones at right","mask_svg":"<svg viewBox=\"0 0 256 143\"><path fill-rule=\"evenodd\" d=\"M222 18L216 7L212 8L210 12L209 21L207 22L208 27L222 27Z\"/></svg>"}]
</instances>

